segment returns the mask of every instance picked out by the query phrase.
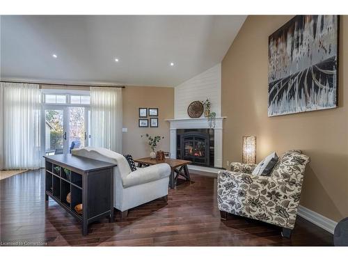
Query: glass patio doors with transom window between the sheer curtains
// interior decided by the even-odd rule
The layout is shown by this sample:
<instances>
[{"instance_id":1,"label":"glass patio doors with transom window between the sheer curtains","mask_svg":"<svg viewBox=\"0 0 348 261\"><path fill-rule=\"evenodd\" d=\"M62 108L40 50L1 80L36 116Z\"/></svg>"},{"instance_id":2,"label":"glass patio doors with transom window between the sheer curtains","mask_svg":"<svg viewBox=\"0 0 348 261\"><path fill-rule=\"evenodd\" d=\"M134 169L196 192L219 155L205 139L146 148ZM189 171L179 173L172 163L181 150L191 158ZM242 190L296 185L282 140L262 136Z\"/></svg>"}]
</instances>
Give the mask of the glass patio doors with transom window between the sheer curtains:
<instances>
[{"instance_id":1,"label":"glass patio doors with transom window between the sheer curtains","mask_svg":"<svg viewBox=\"0 0 348 261\"><path fill-rule=\"evenodd\" d=\"M41 115L42 156L66 155L90 143L89 91L42 90Z\"/></svg>"}]
</instances>

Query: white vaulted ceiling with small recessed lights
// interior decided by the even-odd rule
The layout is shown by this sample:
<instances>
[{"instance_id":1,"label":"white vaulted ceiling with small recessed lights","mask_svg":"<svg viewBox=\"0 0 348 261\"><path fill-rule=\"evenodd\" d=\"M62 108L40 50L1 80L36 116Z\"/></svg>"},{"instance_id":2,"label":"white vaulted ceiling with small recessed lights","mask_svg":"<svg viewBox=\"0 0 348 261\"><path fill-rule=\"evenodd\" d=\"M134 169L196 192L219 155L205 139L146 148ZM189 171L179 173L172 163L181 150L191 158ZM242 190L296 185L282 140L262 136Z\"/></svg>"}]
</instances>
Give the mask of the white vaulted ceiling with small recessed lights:
<instances>
[{"instance_id":1,"label":"white vaulted ceiling with small recessed lights","mask_svg":"<svg viewBox=\"0 0 348 261\"><path fill-rule=\"evenodd\" d=\"M1 16L1 79L176 86L220 63L245 19Z\"/></svg>"}]
</instances>

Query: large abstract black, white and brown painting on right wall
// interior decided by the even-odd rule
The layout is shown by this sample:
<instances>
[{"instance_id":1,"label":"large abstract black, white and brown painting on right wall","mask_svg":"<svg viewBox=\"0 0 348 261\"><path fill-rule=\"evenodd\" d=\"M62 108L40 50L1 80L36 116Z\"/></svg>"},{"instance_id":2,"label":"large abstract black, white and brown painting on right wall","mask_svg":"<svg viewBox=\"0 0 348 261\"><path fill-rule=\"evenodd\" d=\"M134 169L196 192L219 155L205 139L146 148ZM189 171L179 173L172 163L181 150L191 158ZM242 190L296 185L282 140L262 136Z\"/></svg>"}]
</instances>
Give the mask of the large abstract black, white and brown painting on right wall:
<instances>
[{"instance_id":1,"label":"large abstract black, white and brown painting on right wall","mask_svg":"<svg viewBox=\"0 0 348 261\"><path fill-rule=\"evenodd\" d=\"M338 15L296 15L269 36L268 116L337 106Z\"/></svg>"}]
</instances>

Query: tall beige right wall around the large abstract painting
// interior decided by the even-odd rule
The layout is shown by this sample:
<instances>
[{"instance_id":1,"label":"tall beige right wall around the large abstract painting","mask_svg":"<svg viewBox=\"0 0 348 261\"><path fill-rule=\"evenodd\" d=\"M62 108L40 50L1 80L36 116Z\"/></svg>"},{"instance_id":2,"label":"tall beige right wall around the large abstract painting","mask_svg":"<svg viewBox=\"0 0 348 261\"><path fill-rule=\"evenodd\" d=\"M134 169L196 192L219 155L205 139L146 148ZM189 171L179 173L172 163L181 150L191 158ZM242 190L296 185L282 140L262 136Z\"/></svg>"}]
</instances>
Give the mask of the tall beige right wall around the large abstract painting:
<instances>
[{"instance_id":1,"label":"tall beige right wall around the large abstract painting","mask_svg":"<svg viewBox=\"0 0 348 261\"><path fill-rule=\"evenodd\" d=\"M340 19L337 109L267 117L268 36L291 16L249 16L222 62L223 164L241 161L242 136L257 136L257 161L272 151L309 155L301 205L348 216L348 16Z\"/></svg>"}]
</instances>

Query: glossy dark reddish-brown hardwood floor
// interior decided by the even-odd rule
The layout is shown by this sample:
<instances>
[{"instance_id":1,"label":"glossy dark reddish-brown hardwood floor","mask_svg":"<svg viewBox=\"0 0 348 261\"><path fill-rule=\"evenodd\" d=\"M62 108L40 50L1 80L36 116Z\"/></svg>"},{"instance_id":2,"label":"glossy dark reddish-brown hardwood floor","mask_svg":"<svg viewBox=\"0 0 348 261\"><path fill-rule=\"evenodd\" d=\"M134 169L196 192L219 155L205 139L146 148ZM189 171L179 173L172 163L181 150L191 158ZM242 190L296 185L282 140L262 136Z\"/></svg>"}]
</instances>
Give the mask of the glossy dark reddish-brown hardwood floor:
<instances>
[{"instance_id":1,"label":"glossy dark reddish-brown hardwood floor","mask_svg":"<svg viewBox=\"0 0 348 261\"><path fill-rule=\"evenodd\" d=\"M1 242L48 246L331 246L332 235L299 217L291 239L280 228L233 216L221 221L216 179L191 173L170 189L168 204L155 200L129 211L116 222L80 224L60 206L45 203L43 171L29 171L0 181Z\"/></svg>"}]
</instances>

